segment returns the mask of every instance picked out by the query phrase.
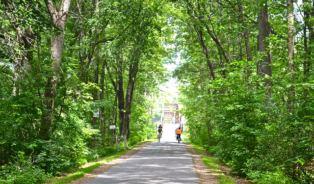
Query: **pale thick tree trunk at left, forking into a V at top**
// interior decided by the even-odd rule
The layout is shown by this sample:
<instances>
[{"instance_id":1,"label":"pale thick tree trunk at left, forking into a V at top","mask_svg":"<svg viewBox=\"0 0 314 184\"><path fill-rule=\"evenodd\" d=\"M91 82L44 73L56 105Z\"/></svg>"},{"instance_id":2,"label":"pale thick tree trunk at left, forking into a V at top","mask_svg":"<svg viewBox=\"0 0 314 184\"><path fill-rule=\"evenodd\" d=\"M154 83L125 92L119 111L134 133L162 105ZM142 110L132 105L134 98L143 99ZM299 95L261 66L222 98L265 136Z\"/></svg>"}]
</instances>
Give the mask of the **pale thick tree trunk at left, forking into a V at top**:
<instances>
[{"instance_id":1,"label":"pale thick tree trunk at left, forking into a V at top","mask_svg":"<svg viewBox=\"0 0 314 184\"><path fill-rule=\"evenodd\" d=\"M47 79L45 86L45 101L42 109L42 119L39 135L44 140L50 139L52 122L54 116L54 100L56 97L56 87L59 79L59 71L63 53L65 21L70 10L71 0L63 0L60 11L57 11L52 0L45 0L46 7L51 17L52 24L58 28L52 38L52 75Z\"/></svg>"}]
</instances>

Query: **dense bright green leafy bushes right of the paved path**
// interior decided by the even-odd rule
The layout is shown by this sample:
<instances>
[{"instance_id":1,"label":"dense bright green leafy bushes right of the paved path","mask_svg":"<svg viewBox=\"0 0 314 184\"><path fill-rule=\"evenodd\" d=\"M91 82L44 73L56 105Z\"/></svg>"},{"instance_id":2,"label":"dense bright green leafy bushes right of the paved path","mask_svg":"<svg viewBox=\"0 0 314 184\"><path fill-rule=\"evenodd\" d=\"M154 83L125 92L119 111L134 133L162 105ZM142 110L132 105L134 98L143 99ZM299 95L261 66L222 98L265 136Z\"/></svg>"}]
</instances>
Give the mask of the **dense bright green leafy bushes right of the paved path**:
<instances>
[{"instance_id":1,"label":"dense bright green leafy bushes right of the paved path","mask_svg":"<svg viewBox=\"0 0 314 184\"><path fill-rule=\"evenodd\" d=\"M257 184L313 183L313 98L295 95L291 106L282 102L286 86L272 88L271 98L236 80L211 87L228 93L186 102L192 142ZM294 90L313 95L312 87Z\"/></svg>"}]
</instances>

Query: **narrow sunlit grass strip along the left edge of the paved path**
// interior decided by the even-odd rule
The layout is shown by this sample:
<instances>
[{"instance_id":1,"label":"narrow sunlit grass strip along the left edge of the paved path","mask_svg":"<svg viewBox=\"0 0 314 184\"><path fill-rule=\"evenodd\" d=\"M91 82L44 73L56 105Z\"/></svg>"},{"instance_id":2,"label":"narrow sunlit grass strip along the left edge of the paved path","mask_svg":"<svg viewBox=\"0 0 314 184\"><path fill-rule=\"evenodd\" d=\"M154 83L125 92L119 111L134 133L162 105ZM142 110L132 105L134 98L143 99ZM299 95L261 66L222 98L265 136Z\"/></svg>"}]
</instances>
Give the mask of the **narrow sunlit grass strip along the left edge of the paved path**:
<instances>
[{"instance_id":1,"label":"narrow sunlit grass strip along the left edge of the paved path","mask_svg":"<svg viewBox=\"0 0 314 184\"><path fill-rule=\"evenodd\" d=\"M130 148L130 150L132 148L138 147L139 145L146 143L146 142L152 142L152 141L156 141L156 139L150 139L150 140L146 140L144 142L140 142L134 146L132 146ZM121 151L118 152L112 156L108 156L105 158L101 158L100 161L97 162L93 162L93 163L88 163L88 166L84 167L82 166L82 168L78 169L78 171L66 176L66 177L60 177L57 179L57 181L49 183L49 184L65 184L68 182L72 182L74 180L78 180L79 178L82 178L85 176L86 173L90 173L93 172L95 169L97 169L98 167L100 167L102 164L105 164L106 162L109 162L111 160L114 160L116 158L119 158L121 155L127 153L128 151Z\"/></svg>"}]
</instances>

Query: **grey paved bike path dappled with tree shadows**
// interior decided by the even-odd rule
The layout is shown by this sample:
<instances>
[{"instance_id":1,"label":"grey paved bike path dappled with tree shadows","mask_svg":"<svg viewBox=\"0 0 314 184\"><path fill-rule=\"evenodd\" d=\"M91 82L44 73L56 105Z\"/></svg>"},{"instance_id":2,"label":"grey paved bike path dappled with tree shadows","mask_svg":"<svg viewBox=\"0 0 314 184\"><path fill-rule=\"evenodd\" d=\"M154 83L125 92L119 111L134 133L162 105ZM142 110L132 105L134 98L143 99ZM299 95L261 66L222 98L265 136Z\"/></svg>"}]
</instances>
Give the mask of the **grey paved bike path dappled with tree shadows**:
<instances>
[{"instance_id":1,"label":"grey paved bike path dappled with tree shadows","mask_svg":"<svg viewBox=\"0 0 314 184\"><path fill-rule=\"evenodd\" d=\"M162 139L84 184L200 184L183 143Z\"/></svg>"}]
</instances>

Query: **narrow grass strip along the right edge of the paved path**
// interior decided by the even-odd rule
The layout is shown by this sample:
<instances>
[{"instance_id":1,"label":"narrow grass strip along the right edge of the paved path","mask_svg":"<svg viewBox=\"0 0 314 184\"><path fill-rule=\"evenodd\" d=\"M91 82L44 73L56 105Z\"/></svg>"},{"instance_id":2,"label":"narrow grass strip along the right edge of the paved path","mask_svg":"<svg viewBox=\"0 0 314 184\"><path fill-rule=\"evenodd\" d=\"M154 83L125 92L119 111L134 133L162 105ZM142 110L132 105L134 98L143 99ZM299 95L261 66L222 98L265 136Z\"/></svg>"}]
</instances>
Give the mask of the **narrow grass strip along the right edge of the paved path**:
<instances>
[{"instance_id":1,"label":"narrow grass strip along the right edge of the paved path","mask_svg":"<svg viewBox=\"0 0 314 184\"><path fill-rule=\"evenodd\" d=\"M224 168L221 166L221 162L217 158L206 156L206 150L199 145L191 143L188 137L184 138L184 142L190 144L195 151L201 153L203 163L208 166L212 173L218 174L217 179L219 184L236 184L234 178L225 175L225 172L223 171Z\"/></svg>"}]
</instances>

